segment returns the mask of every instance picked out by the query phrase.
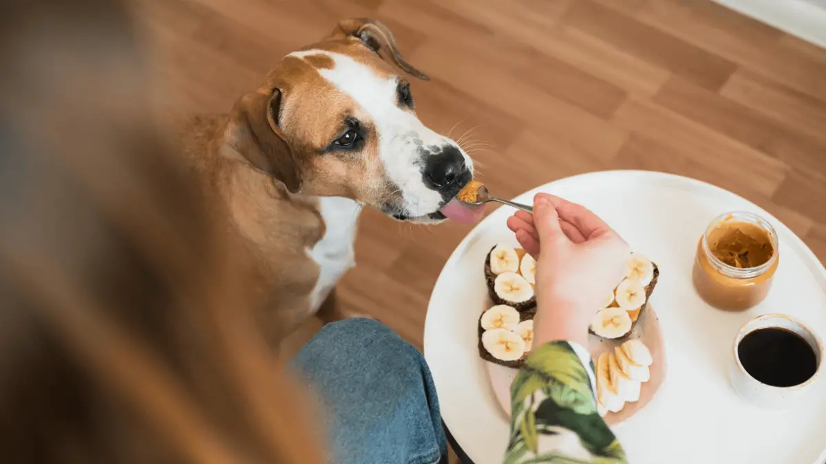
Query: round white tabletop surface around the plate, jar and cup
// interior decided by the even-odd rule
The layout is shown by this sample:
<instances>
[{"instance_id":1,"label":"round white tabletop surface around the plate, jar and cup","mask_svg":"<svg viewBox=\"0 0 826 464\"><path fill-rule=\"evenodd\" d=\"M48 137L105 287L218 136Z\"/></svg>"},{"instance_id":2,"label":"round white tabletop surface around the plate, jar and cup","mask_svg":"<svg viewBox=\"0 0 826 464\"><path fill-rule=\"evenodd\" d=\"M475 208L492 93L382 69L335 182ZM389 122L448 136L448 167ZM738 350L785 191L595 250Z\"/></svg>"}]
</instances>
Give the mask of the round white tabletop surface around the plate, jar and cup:
<instances>
[{"instance_id":1,"label":"round white tabletop surface around the plate, jar and cup","mask_svg":"<svg viewBox=\"0 0 826 464\"><path fill-rule=\"evenodd\" d=\"M802 240L760 207L708 183L666 173L606 171L560 179L535 193L563 196L600 215L662 269L651 297L668 353L668 376L648 406L614 428L634 463L750 462L811 464L826 447L826 382L808 403L785 410L749 405L729 385L729 353L738 329L756 315L780 312L826 335L826 269ZM739 313L714 310L691 285L697 240L716 215L752 211L780 239L780 264L767 299ZM485 253L516 245L501 207L468 234L445 263L430 296L425 358L444 423L476 464L501 464L509 424L477 353L476 323L487 292ZM819 464L819 462L818 462Z\"/></svg>"}]
</instances>

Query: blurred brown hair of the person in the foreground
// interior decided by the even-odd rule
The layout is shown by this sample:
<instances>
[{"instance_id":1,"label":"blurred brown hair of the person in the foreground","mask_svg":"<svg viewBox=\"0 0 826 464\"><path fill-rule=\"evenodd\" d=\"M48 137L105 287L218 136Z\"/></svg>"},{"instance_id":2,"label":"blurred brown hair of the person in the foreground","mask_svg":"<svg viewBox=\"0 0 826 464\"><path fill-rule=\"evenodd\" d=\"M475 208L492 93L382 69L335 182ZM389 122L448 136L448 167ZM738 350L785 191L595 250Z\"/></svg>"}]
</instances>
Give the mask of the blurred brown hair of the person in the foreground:
<instances>
[{"instance_id":1,"label":"blurred brown hair of the person in the foreground","mask_svg":"<svg viewBox=\"0 0 826 464\"><path fill-rule=\"evenodd\" d=\"M0 462L320 462L113 0L0 4Z\"/></svg>"}]
</instances>

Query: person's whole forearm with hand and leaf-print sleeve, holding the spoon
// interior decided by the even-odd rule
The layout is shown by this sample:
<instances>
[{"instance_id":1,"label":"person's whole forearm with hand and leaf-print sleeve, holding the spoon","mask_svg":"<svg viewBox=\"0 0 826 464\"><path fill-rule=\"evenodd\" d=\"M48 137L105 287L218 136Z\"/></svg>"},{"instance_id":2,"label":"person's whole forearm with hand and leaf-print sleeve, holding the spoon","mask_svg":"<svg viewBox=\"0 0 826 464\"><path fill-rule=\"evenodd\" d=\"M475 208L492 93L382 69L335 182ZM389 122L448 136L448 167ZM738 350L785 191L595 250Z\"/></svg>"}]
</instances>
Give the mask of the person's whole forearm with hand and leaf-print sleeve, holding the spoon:
<instances>
[{"instance_id":1,"label":"person's whole forearm with hand and leaf-print sleeve, holding the spoon","mask_svg":"<svg viewBox=\"0 0 826 464\"><path fill-rule=\"evenodd\" d=\"M506 464L627 462L596 410L588 324L625 274L628 244L583 206L534 198L508 226L537 259L534 351L510 386ZM541 244L541 247L540 247Z\"/></svg>"}]
</instances>

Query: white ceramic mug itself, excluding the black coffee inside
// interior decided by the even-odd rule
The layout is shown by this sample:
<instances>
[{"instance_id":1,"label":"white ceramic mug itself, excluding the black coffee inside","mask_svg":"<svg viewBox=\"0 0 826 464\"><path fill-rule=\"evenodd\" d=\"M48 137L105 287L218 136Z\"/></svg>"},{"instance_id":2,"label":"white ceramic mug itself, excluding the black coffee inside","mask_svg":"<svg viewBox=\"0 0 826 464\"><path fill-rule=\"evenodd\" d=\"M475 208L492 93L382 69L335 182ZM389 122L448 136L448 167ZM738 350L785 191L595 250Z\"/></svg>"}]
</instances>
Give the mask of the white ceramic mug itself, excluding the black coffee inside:
<instances>
[{"instance_id":1,"label":"white ceramic mug itself, excluding the black coffee inside","mask_svg":"<svg viewBox=\"0 0 826 464\"><path fill-rule=\"evenodd\" d=\"M771 386L761 381L757 381L754 377L746 372L743 363L740 362L738 355L738 345L743 338L751 334L757 329L767 329L776 327L786 329L790 332L800 335L802 339L809 343L809 346L814 350L814 357L818 363L817 370L814 375L809 377L809 380L795 386ZM733 344L733 362L729 370L729 380L734 387L734 391L754 405L766 408L780 408L782 406L790 405L800 400L805 396L806 391L809 390L815 381L818 380L822 360L824 357L824 345L817 334L806 327L803 322L797 320L789 315L760 315L749 320L737 334Z\"/></svg>"}]
</instances>

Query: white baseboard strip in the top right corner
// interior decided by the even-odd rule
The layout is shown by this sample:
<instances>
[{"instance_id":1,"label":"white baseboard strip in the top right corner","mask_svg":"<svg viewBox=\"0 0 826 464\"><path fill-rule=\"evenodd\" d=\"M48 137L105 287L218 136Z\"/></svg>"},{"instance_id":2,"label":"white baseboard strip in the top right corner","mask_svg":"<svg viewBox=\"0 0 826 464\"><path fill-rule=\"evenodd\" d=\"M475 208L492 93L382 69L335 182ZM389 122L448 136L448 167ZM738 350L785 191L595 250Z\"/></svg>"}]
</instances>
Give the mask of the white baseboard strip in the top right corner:
<instances>
[{"instance_id":1,"label":"white baseboard strip in the top right corner","mask_svg":"<svg viewBox=\"0 0 826 464\"><path fill-rule=\"evenodd\" d=\"M792 36L826 48L826 8L805 0L714 0Z\"/></svg>"}]
</instances>

